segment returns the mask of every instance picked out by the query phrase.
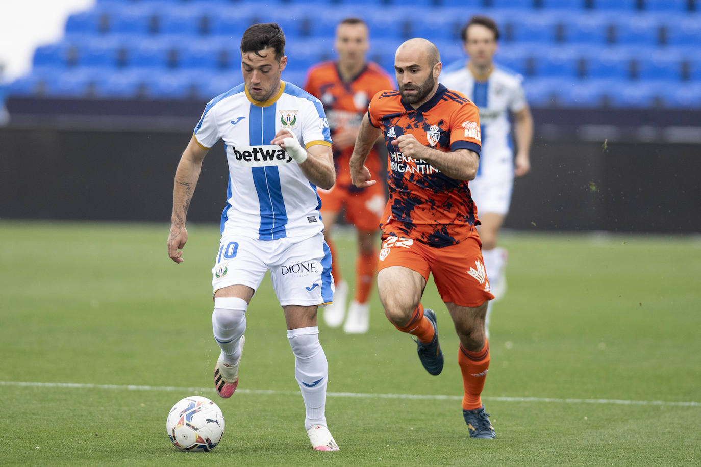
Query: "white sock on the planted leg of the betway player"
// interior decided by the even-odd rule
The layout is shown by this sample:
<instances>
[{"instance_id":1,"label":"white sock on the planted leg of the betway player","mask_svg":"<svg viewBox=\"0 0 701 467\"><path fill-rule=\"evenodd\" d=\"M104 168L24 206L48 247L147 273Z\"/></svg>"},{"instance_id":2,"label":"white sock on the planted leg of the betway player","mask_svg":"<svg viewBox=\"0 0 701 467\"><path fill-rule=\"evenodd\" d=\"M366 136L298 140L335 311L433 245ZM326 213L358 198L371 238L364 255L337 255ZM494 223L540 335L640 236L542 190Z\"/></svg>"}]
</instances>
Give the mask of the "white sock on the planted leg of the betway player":
<instances>
[{"instance_id":1,"label":"white sock on the planted leg of the betway player","mask_svg":"<svg viewBox=\"0 0 701 467\"><path fill-rule=\"evenodd\" d=\"M319 328L288 329L287 339L294 354L294 379L297 379L306 409L304 428L326 426L324 411L329 374L326 355L319 343Z\"/></svg>"}]
</instances>

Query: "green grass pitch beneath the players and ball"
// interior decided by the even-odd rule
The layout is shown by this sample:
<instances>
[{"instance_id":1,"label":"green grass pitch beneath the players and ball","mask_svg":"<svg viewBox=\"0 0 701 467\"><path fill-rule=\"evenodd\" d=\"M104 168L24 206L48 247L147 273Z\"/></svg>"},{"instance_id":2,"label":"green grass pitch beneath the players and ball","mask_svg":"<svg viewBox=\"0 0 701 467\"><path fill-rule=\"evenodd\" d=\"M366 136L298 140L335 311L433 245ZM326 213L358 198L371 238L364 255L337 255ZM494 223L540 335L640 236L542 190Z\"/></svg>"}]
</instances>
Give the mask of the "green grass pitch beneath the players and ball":
<instances>
[{"instance_id":1,"label":"green grass pitch beneath the players and ball","mask_svg":"<svg viewBox=\"0 0 701 467\"><path fill-rule=\"evenodd\" d=\"M698 465L701 241L508 233L484 403L496 440L470 440L457 338L433 282L446 367L432 377L386 321L366 335L320 324L327 420L340 452L313 452L283 314L268 279L247 314L239 390L212 388L215 225L185 262L167 225L0 221L0 465ZM353 279L353 237L338 239ZM27 384L24 384L27 383ZM71 384L75 384L72 386ZM164 387L168 386L168 387ZM226 433L179 452L165 417L215 400Z\"/></svg>"}]
</instances>

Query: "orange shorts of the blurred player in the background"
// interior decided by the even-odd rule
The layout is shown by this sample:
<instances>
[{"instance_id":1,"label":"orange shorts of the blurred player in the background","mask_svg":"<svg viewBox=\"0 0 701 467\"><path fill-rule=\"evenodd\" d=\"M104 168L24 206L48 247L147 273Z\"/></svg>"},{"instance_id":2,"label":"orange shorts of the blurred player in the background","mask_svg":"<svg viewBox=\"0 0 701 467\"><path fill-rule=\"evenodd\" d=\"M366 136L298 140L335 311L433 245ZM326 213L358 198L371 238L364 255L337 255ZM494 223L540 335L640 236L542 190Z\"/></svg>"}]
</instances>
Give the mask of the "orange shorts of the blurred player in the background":
<instances>
[{"instance_id":1,"label":"orange shorts of the blurred player in the background","mask_svg":"<svg viewBox=\"0 0 701 467\"><path fill-rule=\"evenodd\" d=\"M330 190L318 188L321 211L339 212L346 206L346 218L358 230L374 232L380 228L380 219L387 202L380 183L365 189L355 186L334 185ZM323 216L323 214L322 214Z\"/></svg>"}]
</instances>

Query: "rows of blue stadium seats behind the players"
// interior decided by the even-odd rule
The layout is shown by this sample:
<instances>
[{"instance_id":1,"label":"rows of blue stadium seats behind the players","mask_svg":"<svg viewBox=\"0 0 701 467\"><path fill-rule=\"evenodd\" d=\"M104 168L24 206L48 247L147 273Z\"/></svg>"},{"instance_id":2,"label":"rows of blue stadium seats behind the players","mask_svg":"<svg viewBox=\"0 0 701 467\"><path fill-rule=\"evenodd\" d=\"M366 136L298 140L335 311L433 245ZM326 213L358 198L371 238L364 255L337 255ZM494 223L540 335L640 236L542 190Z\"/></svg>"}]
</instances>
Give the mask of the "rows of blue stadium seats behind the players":
<instances>
[{"instance_id":1,"label":"rows of blue stadium seats behind the players","mask_svg":"<svg viewBox=\"0 0 701 467\"><path fill-rule=\"evenodd\" d=\"M240 36L248 25L266 21L278 22L287 35L284 78L301 83L311 64L334 57L336 23L351 15L367 21L370 57L392 74L396 47L412 36L434 41L445 64L462 60L460 29L482 13L503 31L497 62L526 77L533 105L701 104L700 0L421 0L388 20L386 7L403 4L98 0L67 20L60 42L37 48L31 73L6 92L209 99L240 80Z\"/></svg>"}]
</instances>

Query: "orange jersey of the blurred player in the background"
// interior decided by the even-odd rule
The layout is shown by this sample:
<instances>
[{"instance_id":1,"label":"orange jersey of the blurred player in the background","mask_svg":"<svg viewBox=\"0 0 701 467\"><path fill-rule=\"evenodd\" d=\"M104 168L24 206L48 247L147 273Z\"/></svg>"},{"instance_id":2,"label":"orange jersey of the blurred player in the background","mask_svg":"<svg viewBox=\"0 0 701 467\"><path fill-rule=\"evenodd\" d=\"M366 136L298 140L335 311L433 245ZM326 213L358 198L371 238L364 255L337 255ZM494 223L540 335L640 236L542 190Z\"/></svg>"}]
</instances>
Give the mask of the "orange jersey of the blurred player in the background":
<instances>
[{"instance_id":1,"label":"orange jersey of the blurred player in the background","mask_svg":"<svg viewBox=\"0 0 701 467\"><path fill-rule=\"evenodd\" d=\"M309 70L304 90L317 97L326 111L326 118L331 129L331 139L336 132L345 127L360 127L362 117L367 111L370 98L381 90L393 88L389 75L378 64L368 62L351 81L343 81L336 62L322 62ZM332 144L334 165L336 165L336 183L339 186L359 190L351 183L349 169L353 144L339 149ZM367 167L372 174L379 175L381 164L377 151L373 149L367 160Z\"/></svg>"}]
</instances>

